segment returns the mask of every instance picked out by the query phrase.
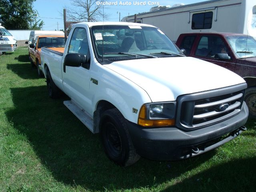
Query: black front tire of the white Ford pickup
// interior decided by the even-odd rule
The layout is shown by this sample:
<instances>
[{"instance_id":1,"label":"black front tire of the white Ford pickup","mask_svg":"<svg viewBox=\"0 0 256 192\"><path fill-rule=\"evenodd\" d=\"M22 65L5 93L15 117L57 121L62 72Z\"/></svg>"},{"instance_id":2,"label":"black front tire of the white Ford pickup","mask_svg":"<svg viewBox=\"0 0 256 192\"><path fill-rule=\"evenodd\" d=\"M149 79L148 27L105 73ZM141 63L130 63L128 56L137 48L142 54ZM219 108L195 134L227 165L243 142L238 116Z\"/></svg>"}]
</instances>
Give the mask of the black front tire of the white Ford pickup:
<instances>
[{"instance_id":1,"label":"black front tire of the white Ford pickup","mask_svg":"<svg viewBox=\"0 0 256 192\"><path fill-rule=\"evenodd\" d=\"M140 159L132 144L126 119L116 108L103 112L100 135L108 158L120 166L129 166Z\"/></svg>"}]
</instances>

